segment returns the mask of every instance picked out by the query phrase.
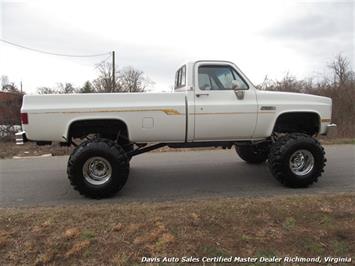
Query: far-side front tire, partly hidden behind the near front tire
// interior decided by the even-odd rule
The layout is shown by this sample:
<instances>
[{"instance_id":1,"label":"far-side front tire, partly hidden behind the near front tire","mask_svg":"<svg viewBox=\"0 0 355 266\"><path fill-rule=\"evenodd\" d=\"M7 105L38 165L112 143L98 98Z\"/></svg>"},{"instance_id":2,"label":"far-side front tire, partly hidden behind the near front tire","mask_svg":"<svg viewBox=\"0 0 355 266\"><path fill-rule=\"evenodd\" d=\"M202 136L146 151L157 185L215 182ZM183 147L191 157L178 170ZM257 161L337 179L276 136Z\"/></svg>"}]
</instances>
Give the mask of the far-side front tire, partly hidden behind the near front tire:
<instances>
[{"instance_id":1,"label":"far-side front tire, partly hidden behind the near front tire","mask_svg":"<svg viewBox=\"0 0 355 266\"><path fill-rule=\"evenodd\" d=\"M235 146L239 157L247 163L260 164L266 161L270 147L266 143Z\"/></svg>"}]
</instances>

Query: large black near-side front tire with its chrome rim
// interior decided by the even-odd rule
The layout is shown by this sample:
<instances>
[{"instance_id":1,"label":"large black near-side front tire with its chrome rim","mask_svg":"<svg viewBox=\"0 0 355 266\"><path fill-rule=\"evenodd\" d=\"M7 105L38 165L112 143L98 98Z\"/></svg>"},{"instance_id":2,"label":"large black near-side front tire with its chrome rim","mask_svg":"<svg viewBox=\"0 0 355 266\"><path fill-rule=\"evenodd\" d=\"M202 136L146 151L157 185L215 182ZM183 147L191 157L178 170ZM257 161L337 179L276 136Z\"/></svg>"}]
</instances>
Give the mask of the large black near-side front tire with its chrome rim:
<instances>
[{"instance_id":1,"label":"large black near-side front tire with its chrome rim","mask_svg":"<svg viewBox=\"0 0 355 266\"><path fill-rule=\"evenodd\" d=\"M318 140L302 133L280 137L268 158L273 176L283 185L303 188L318 181L325 167L325 152Z\"/></svg>"}]
</instances>

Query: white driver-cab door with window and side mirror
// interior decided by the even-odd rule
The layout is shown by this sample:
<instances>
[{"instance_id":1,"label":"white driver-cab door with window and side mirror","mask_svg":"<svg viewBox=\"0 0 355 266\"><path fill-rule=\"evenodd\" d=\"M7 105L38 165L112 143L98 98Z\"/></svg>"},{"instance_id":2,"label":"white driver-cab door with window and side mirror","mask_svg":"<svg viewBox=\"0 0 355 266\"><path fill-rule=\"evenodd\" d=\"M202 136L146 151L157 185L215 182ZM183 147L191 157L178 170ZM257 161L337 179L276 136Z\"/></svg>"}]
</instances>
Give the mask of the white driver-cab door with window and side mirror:
<instances>
[{"instance_id":1,"label":"white driver-cab door with window and side mirror","mask_svg":"<svg viewBox=\"0 0 355 266\"><path fill-rule=\"evenodd\" d=\"M194 140L250 139L257 119L254 87L228 63L198 63L194 74Z\"/></svg>"}]
</instances>

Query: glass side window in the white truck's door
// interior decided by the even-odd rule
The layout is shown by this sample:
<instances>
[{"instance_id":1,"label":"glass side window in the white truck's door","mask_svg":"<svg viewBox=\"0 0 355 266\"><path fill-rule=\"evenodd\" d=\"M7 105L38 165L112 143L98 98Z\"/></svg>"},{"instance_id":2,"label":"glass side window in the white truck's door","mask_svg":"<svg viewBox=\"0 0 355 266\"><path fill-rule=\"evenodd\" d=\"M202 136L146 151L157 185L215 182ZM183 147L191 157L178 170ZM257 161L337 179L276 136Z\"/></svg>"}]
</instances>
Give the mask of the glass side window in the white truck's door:
<instances>
[{"instance_id":1,"label":"glass side window in the white truck's door","mask_svg":"<svg viewBox=\"0 0 355 266\"><path fill-rule=\"evenodd\" d=\"M230 66L200 66L198 68L200 90L232 90L233 81L240 89L249 87L240 75Z\"/></svg>"}]
</instances>

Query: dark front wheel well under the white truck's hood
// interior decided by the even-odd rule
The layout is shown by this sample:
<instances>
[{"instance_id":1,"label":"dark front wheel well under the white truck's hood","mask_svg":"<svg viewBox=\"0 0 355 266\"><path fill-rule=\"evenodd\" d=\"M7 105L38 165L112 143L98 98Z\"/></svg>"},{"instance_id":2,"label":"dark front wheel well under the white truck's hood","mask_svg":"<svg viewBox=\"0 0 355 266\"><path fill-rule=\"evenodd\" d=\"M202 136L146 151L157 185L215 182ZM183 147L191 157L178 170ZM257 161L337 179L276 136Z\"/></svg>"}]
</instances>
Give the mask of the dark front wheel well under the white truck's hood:
<instances>
[{"instance_id":1,"label":"dark front wheel well under the white truck's hood","mask_svg":"<svg viewBox=\"0 0 355 266\"><path fill-rule=\"evenodd\" d=\"M292 133L299 132L315 135L319 132L319 115L312 112L294 112L281 114L275 123L273 132Z\"/></svg>"}]
</instances>

